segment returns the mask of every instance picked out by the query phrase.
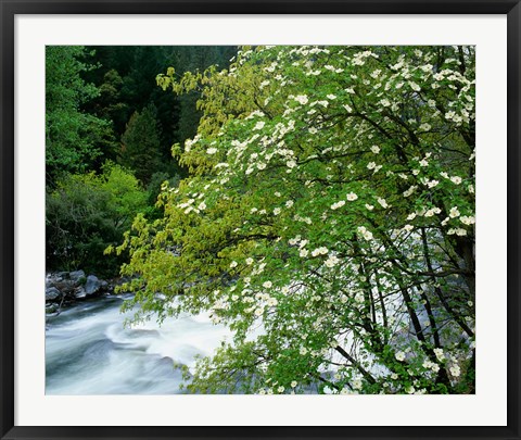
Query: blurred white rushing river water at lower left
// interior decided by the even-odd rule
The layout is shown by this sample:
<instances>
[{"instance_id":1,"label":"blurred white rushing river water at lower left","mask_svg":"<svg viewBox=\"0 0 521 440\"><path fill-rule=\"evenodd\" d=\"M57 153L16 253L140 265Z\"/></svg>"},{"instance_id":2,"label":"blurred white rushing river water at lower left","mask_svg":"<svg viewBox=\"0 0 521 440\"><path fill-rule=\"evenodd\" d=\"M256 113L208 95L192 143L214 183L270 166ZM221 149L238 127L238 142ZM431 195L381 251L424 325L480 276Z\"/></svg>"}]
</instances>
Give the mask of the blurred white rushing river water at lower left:
<instances>
[{"instance_id":1,"label":"blurred white rushing river water at lower left","mask_svg":"<svg viewBox=\"0 0 521 440\"><path fill-rule=\"evenodd\" d=\"M49 319L46 331L47 394L179 393L181 373L231 334L206 315L181 315L124 328L124 297L76 304Z\"/></svg>"}]
</instances>

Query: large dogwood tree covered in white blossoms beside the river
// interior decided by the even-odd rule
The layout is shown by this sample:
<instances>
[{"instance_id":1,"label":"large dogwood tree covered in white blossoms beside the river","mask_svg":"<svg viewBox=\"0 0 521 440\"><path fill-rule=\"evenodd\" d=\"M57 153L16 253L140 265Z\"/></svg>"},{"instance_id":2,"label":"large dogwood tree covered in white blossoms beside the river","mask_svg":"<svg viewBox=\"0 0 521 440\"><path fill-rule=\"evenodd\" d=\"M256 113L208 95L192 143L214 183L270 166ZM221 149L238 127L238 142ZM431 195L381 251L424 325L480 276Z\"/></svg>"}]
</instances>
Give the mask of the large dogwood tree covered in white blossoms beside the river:
<instances>
[{"instance_id":1,"label":"large dogwood tree covered in white blossoms beside the river","mask_svg":"<svg viewBox=\"0 0 521 440\"><path fill-rule=\"evenodd\" d=\"M194 392L474 392L474 48L243 48L199 90L126 309L233 330ZM161 294L158 294L161 293Z\"/></svg>"}]
</instances>

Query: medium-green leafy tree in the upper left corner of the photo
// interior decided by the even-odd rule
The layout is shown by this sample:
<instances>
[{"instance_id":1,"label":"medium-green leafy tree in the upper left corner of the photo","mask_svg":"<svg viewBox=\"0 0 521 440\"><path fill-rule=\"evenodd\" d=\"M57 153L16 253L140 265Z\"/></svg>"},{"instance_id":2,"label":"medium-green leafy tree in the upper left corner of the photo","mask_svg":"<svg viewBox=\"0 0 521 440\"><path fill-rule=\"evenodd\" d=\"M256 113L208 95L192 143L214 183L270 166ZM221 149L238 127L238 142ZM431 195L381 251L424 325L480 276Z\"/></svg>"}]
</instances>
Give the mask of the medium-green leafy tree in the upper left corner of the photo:
<instances>
[{"instance_id":1,"label":"medium-green leafy tree in the upper left corner of the photo","mask_svg":"<svg viewBox=\"0 0 521 440\"><path fill-rule=\"evenodd\" d=\"M89 169L104 149L113 147L111 124L81 109L99 95L81 78L93 67L79 61L82 56L80 46L46 49L46 166L51 186L64 173Z\"/></svg>"}]
</instances>

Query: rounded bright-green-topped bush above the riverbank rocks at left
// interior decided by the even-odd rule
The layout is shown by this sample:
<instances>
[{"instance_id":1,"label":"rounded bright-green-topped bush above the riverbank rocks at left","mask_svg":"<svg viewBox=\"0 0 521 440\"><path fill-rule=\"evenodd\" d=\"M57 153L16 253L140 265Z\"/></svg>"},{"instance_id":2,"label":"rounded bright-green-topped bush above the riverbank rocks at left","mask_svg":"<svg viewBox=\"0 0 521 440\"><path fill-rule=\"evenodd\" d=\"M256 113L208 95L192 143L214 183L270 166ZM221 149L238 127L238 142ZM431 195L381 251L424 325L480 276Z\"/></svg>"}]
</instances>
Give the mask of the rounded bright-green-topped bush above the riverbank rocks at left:
<instances>
[{"instance_id":1,"label":"rounded bright-green-topped bush above the riverbank rocks at left","mask_svg":"<svg viewBox=\"0 0 521 440\"><path fill-rule=\"evenodd\" d=\"M84 268L114 276L123 259L104 250L123 239L135 215L147 206L148 193L124 168L105 164L103 174L68 175L47 194L48 268Z\"/></svg>"}]
</instances>

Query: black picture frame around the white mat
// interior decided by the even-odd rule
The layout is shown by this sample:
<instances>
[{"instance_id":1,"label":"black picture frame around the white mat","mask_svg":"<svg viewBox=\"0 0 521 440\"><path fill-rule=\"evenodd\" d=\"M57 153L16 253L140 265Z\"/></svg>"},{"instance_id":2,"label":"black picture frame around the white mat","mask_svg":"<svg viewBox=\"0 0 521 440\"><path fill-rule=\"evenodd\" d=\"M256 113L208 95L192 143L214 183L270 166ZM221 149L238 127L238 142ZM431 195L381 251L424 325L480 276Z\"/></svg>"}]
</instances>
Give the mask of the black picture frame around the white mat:
<instances>
[{"instance_id":1,"label":"black picture frame around the white mat","mask_svg":"<svg viewBox=\"0 0 521 440\"><path fill-rule=\"evenodd\" d=\"M505 427L28 427L14 425L14 20L17 14L506 14L508 51L508 413ZM520 439L520 0L0 0L1 439ZM443 412L441 412L443 417Z\"/></svg>"}]
</instances>

